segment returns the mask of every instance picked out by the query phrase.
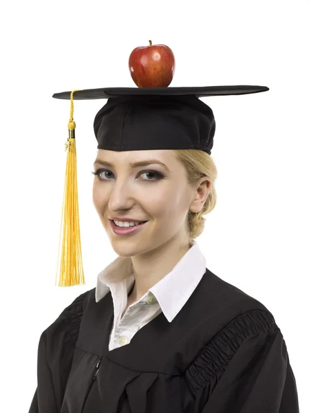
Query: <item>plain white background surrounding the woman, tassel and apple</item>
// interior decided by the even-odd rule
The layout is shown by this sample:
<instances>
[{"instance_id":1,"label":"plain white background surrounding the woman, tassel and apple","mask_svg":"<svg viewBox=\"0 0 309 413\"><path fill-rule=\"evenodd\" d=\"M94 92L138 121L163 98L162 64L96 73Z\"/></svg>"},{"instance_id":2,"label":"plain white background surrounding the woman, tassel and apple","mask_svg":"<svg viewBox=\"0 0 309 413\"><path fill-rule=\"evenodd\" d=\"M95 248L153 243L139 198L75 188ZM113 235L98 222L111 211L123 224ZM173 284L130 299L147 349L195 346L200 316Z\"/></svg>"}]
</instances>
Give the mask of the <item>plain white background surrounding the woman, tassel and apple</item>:
<instances>
[{"instance_id":1,"label":"plain white background surrounding the woman, tassel and apple","mask_svg":"<svg viewBox=\"0 0 309 413\"><path fill-rule=\"evenodd\" d=\"M70 100L136 87L131 50L163 43L170 87L264 85L202 98L216 120L217 207L198 243L207 267L273 313L308 411L308 1L14 1L1 7L1 411L28 412L39 337L116 258L92 204L94 116L74 105L86 285L56 287ZM306 28L307 26L307 28Z\"/></svg>"}]
</instances>

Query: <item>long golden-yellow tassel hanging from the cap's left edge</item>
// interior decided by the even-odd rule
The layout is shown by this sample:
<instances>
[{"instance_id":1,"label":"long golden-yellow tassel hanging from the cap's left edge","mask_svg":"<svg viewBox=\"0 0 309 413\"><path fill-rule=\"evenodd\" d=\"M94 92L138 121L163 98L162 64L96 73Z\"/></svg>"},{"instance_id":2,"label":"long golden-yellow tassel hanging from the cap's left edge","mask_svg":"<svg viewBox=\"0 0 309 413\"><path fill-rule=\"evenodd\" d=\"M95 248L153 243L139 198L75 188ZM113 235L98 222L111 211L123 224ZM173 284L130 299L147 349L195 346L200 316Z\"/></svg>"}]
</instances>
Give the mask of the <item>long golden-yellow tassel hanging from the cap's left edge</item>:
<instances>
[{"instance_id":1,"label":"long golden-yellow tassel hanging from the cap's left edge","mask_svg":"<svg viewBox=\"0 0 309 413\"><path fill-rule=\"evenodd\" d=\"M79 226L78 211L78 191L77 191L77 170L76 170L76 142L75 128L76 123L73 120L73 94L71 92L71 111L70 120L67 125L69 129L69 138L65 142L65 151L67 151L67 166L65 170L65 188L63 193L63 207L61 218L61 230L58 250L58 264L61 235L63 243L61 248L61 272L59 284L61 287L70 287L85 284L83 271L83 260L81 256L81 233ZM58 264L56 279L58 277Z\"/></svg>"}]
</instances>

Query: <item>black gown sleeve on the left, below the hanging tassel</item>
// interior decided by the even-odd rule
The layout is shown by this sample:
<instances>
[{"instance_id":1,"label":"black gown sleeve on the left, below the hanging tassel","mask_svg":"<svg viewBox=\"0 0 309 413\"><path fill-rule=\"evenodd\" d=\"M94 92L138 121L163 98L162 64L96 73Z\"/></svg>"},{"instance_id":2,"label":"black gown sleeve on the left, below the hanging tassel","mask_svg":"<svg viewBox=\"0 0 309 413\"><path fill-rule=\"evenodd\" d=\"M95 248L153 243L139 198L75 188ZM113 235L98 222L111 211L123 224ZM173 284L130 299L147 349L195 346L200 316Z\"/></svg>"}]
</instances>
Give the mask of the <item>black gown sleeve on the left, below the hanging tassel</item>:
<instances>
[{"instance_id":1,"label":"black gown sleeve on the left, below the hanging tassel","mask_svg":"<svg viewBox=\"0 0 309 413\"><path fill-rule=\"evenodd\" d=\"M37 359L37 387L29 413L58 413L61 410L86 293L74 299L41 334Z\"/></svg>"}]
</instances>

